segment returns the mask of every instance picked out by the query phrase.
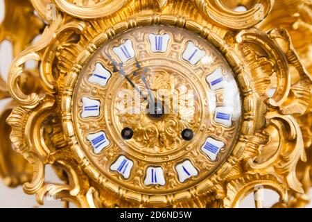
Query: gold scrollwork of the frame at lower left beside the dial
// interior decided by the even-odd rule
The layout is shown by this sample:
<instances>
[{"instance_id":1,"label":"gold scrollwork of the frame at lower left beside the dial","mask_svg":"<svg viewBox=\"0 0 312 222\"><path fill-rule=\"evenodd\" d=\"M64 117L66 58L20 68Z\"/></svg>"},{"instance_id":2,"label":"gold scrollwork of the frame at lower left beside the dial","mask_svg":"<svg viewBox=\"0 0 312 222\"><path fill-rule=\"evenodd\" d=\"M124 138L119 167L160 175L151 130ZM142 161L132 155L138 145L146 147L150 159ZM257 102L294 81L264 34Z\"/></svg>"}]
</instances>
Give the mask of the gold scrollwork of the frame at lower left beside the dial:
<instances>
[{"instance_id":1,"label":"gold scrollwork of the frame at lower left beside the dial","mask_svg":"<svg viewBox=\"0 0 312 222\"><path fill-rule=\"evenodd\" d=\"M71 201L78 207L99 207L92 187L87 194L84 193L86 186L89 186L88 182L77 164L72 161L73 156L62 139L61 126L55 124L55 118L58 117L53 112L54 104L54 99L46 97L32 110L15 108L8 118L8 124L12 127L12 143L17 147L17 152L33 165L33 178L24 184L23 189L26 194L36 194L37 203L41 205L48 195ZM50 123L48 126L43 124L46 121ZM45 181L46 164L51 164L60 172L64 185Z\"/></svg>"}]
</instances>

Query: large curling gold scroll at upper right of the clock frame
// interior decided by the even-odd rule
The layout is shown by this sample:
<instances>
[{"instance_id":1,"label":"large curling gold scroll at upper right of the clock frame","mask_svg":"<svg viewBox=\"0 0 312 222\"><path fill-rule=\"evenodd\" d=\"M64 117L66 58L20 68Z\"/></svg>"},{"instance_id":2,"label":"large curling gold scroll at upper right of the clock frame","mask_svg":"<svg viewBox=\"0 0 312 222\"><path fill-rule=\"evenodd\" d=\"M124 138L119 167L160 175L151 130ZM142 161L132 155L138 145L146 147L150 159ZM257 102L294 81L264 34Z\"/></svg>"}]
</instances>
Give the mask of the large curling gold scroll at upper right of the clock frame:
<instances>
[{"instance_id":1,"label":"large curling gold scroll at upper right of the clock frame","mask_svg":"<svg viewBox=\"0 0 312 222\"><path fill-rule=\"evenodd\" d=\"M283 114L304 114L311 96L309 87L307 87L311 83L311 78L306 69L302 67L287 31L274 29L266 35L257 29L252 29L241 31L236 36L236 40L240 44L247 46L250 44L251 47L249 49L252 48L252 44L259 45L265 53L262 52L257 57L258 60L266 58L266 61L272 62L272 71L269 71L268 74L276 74L278 81L275 85L275 92L268 99L268 103L279 107ZM265 71L259 78L264 81L269 80L270 76L264 74ZM292 83L292 79L296 74L298 75L297 80L295 83ZM254 75L257 74L255 73ZM259 85L255 87L259 87ZM260 93L265 94L265 92Z\"/></svg>"}]
</instances>

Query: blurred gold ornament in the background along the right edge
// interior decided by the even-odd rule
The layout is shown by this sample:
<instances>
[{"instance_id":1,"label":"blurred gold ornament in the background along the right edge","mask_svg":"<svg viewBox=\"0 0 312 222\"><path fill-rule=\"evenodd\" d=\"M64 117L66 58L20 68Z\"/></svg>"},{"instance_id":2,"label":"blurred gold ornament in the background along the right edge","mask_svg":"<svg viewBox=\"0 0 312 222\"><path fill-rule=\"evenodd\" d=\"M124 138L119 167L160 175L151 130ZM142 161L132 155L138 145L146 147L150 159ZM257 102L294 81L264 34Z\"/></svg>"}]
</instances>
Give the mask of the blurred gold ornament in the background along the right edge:
<instances>
[{"instance_id":1,"label":"blurred gold ornament in the background along the right edge","mask_svg":"<svg viewBox=\"0 0 312 222\"><path fill-rule=\"evenodd\" d=\"M311 0L288 0L276 1L270 15L259 24L259 28L268 31L272 28L286 28L293 47L302 62L302 65L312 72L312 2ZM296 75L295 75L296 76ZM295 78L297 81L298 78ZM300 181L304 183L304 190L306 194L292 194L293 199L288 205L277 205L278 207L302 207L309 203L309 188L311 181L307 178L312 178L311 171L311 104L309 109L302 117L297 117L300 128L302 129L302 136L306 148L307 162L300 162L297 168L297 175ZM310 169L310 170L307 170ZM309 172L310 171L310 172Z\"/></svg>"}]
</instances>

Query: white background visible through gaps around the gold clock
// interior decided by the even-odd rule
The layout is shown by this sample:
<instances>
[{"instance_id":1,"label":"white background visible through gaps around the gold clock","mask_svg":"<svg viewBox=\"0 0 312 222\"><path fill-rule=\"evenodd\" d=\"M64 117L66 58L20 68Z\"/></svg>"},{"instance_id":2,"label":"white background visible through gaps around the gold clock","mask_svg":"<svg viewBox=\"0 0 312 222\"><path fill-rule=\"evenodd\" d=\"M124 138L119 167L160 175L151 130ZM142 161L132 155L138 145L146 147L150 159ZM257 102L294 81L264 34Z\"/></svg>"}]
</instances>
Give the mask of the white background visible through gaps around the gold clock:
<instances>
[{"instance_id":1,"label":"white background visible through gaps around the gold clock","mask_svg":"<svg viewBox=\"0 0 312 222\"><path fill-rule=\"evenodd\" d=\"M0 0L0 23L3 20L3 15L3 0ZM10 43L0 43L0 73L4 79L6 79L6 74L8 73L11 61L12 49ZM30 67L33 66L32 63L28 65ZM0 110L6 103L8 103L8 100L0 101ZM51 167L46 167L46 180L49 182L60 182ZM277 202L279 196L273 191L265 190L263 191L262 199L263 207L270 207L272 204ZM35 196L28 196L24 194L21 187L10 189L3 185L0 180L0 207L62 207L62 203L59 200L48 199L45 200L44 206L39 206L35 201ZM247 198L245 198L241 207L254 207L253 194L250 194ZM312 205L310 204L309 207L312 207Z\"/></svg>"}]
</instances>

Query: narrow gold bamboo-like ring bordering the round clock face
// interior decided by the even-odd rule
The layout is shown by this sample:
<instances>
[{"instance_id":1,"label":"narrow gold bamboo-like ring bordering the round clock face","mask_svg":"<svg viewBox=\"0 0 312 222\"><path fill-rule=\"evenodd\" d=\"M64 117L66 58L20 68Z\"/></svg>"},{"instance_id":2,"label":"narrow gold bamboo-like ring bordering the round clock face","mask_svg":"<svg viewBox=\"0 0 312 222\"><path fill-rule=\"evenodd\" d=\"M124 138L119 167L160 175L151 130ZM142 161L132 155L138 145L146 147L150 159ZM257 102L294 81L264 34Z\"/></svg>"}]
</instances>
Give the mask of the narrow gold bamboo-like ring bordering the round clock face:
<instances>
[{"instance_id":1,"label":"narrow gold bamboo-like ring bordering the round clock face","mask_svg":"<svg viewBox=\"0 0 312 222\"><path fill-rule=\"evenodd\" d=\"M100 35L98 35L98 37L95 38L94 42L90 43L89 46L86 47L85 51L81 52L80 55L82 56L78 56L79 59L77 60L77 64L73 65L73 69L72 69L73 71L71 71L67 75L67 80L65 80L65 82L67 83L66 85L67 91L73 89L74 85L76 84L78 73L81 71L82 67L86 64L87 59L89 59L89 56L94 52L94 49L98 49L100 46L103 45L104 42L107 41L107 36L110 36L113 33L112 30L115 30L114 33L117 34L118 31L125 31L128 28L135 28L135 26L138 26L138 25L142 25L142 26L152 25L152 24L155 24L155 21L157 21L159 24L176 25L176 26L187 28L187 29L190 29L191 31L196 31L197 33L200 33L200 35L202 37L205 37L208 40L208 42L213 43L214 46L216 46L220 51L223 52L223 54L225 55L225 58L227 58L227 62L229 62L229 65L231 65L232 69L235 71L236 78L239 82L242 92L251 93L252 89L250 89L250 86L248 85L248 81L246 81L246 79L248 79L248 77L246 76L247 74L245 74L245 71L243 70L243 67L241 66L236 55L231 49L229 49L229 47L226 46L226 43L220 37L218 37L218 35L216 35L215 33L211 33L209 29L204 28L200 26L199 24L195 24L192 21L185 20L184 22L183 21L177 22L179 20L177 19L177 17L174 17L174 16L168 17L168 16L155 15L153 19L150 19L150 17L138 17L137 21L144 21L144 22L140 22L140 24L137 24L137 22L134 22L134 20L131 19L129 22L123 22L123 23L117 24L116 26L112 27L112 29L107 30L101 33ZM252 96L242 96L242 97L243 97L242 98L243 103L246 103L246 102L254 103L255 101L255 99ZM66 92L64 92L63 99L66 99L67 103L63 103L62 110L64 114L66 113L70 114L71 108L70 108L68 101L71 101L72 97L69 96L69 94L67 94ZM248 124L250 128L254 127L253 119L243 120L242 124ZM75 131L73 128L71 119L67 119L67 121L64 121L63 126L65 129L65 132L71 133ZM241 132L241 137L244 137L243 133L245 133L245 135L248 135L248 133L251 134L252 132ZM72 134L70 139L73 143L72 149L77 154L78 160L80 162L83 160L83 162L85 163L85 166L86 166L85 171L89 174L89 176L94 178L94 180L100 182L103 185L103 187L116 191L116 194L119 194L126 198L131 198L132 200L135 200L138 202L145 201L147 198L146 200L147 203L159 203L160 201L161 203L167 203L167 204L171 201L171 200L169 201L168 199L168 197L171 195L173 195L175 198L179 197L179 200L181 200L184 198L188 198L191 192L194 191L194 189L196 190L196 193L198 194L209 190L209 188L211 188L211 186L216 182L216 180L222 180L222 176L225 176L227 171L231 168L231 166L234 165L234 164L229 164L229 163L236 162L239 155L241 155L241 152L243 151L243 146L244 146L243 143L241 142L237 142L235 144L235 146L232 148L232 154L229 155L229 157L227 158L227 162L224 162L223 164L220 165L217 174L215 173L211 177L209 178L207 177L204 180L201 180L196 186L189 187L188 189L184 189L184 190L181 189L180 191L175 191L173 194L168 194L167 196L166 194L157 194L157 192L155 192L155 194L150 193L148 195L139 194L136 191L122 188L119 185L117 185L115 182L107 180L107 178L101 175L101 172L98 170L98 168L94 167L94 164L90 164L86 153L79 146L76 136Z\"/></svg>"}]
</instances>

